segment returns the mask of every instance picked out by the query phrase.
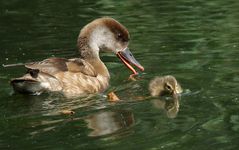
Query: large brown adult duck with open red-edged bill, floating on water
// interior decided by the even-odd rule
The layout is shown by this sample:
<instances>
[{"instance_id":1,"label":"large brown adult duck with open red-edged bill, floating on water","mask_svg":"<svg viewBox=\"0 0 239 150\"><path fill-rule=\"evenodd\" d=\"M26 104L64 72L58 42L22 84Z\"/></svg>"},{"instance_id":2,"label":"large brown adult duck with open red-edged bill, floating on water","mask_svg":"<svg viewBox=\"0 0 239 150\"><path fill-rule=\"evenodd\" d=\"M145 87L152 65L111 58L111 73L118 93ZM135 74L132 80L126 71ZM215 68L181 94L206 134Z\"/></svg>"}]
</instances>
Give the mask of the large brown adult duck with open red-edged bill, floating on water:
<instances>
[{"instance_id":1,"label":"large brown adult duck with open red-edged bill, floating on water","mask_svg":"<svg viewBox=\"0 0 239 150\"><path fill-rule=\"evenodd\" d=\"M48 58L27 63L27 73L11 80L19 93L39 95L43 92L62 92L66 97L76 97L103 92L109 85L110 75L99 52L115 53L133 72L132 65L144 70L128 49L128 30L113 18L93 20L80 31L77 46L79 58Z\"/></svg>"}]
</instances>

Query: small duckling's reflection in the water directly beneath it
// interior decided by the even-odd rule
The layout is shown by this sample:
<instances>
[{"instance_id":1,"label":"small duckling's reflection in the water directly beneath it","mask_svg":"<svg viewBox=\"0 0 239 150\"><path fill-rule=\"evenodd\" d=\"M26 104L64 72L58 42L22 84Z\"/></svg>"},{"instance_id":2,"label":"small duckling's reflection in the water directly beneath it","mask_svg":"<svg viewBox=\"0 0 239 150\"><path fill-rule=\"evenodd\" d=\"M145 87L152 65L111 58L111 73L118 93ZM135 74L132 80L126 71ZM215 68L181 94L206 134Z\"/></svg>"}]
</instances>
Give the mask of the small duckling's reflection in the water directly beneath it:
<instances>
[{"instance_id":1,"label":"small duckling's reflection in the water directly beneath it","mask_svg":"<svg viewBox=\"0 0 239 150\"><path fill-rule=\"evenodd\" d=\"M168 118L175 118L179 111L179 99L179 96L174 96L171 99L153 100L152 103L154 107L164 110Z\"/></svg>"}]
</instances>

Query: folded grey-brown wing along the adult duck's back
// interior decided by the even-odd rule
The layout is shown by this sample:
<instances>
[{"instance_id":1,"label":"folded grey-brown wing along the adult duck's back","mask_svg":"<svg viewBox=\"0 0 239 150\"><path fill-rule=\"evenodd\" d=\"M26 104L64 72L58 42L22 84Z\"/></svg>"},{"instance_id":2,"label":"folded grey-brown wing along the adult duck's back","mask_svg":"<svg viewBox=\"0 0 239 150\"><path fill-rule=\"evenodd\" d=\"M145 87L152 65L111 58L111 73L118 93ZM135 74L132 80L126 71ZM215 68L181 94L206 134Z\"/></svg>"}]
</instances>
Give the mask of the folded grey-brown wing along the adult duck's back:
<instances>
[{"instance_id":1,"label":"folded grey-brown wing along the adult duck's back","mask_svg":"<svg viewBox=\"0 0 239 150\"><path fill-rule=\"evenodd\" d=\"M65 59L65 58L49 58L40 62L25 64L29 71L36 70L54 76L59 72L81 72L88 76L97 76L93 66L80 58ZM30 72L31 73L31 72Z\"/></svg>"}]
</instances>

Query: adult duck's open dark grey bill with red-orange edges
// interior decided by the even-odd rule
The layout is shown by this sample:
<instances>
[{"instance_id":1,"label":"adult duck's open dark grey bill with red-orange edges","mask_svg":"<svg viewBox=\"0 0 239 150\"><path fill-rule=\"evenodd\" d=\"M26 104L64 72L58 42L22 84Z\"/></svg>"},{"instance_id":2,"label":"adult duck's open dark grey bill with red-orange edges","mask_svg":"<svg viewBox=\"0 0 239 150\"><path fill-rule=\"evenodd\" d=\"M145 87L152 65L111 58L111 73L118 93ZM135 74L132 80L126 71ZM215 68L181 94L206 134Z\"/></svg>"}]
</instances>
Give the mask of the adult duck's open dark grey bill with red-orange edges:
<instances>
[{"instance_id":1,"label":"adult duck's open dark grey bill with red-orange edges","mask_svg":"<svg viewBox=\"0 0 239 150\"><path fill-rule=\"evenodd\" d=\"M132 65L136 66L141 71L144 71L144 67L140 65L140 63L134 58L133 54L130 52L128 48L119 51L117 53L117 56L126 65L126 67L133 72L133 74L138 74L138 72L132 67Z\"/></svg>"}]
</instances>

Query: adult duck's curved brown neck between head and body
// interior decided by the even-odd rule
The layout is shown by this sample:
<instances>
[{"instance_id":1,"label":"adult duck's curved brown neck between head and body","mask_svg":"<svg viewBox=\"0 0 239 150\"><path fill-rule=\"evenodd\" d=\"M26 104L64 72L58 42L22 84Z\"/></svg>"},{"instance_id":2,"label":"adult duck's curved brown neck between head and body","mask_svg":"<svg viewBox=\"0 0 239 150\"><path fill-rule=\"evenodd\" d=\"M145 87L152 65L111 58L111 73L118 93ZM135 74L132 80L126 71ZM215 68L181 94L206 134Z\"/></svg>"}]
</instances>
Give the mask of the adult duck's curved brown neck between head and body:
<instances>
[{"instance_id":1,"label":"adult duck's curved brown neck between head and body","mask_svg":"<svg viewBox=\"0 0 239 150\"><path fill-rule=\"evenodd\" d=\"M108 69L99 57L99 49L90 44L89 38L79 36L77 43L80 57L90 63L99 75L110 78Z\"/></svg>"}]
</instances>

